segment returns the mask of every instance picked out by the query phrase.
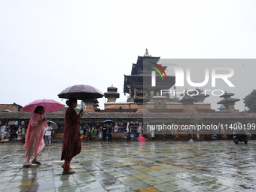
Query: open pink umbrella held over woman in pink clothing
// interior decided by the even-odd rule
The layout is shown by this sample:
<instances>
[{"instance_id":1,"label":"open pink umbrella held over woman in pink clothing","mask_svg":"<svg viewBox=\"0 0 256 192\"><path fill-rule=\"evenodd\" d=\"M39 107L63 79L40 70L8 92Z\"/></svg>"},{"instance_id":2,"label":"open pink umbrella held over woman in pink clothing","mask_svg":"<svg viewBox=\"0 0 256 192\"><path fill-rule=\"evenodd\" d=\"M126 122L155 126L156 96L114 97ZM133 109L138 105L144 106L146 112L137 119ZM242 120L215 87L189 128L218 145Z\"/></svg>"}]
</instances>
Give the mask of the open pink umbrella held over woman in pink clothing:
<instances>
[{"instance_id":1,"label":"open pink umbrella held over woman in pink clothing","mask_svg":"<svg viewBox=\"0 0 256 192\"><path fill-rule=\"evenodd\" d=\"M60 102L56 102L53 99L38 99L34 102L30 102L28 105L25 105L25 107L21 109L23 111L33 113L37 106L43 106L45 113L55 112L65 108L65 105Z\"/></svg>"}]
</instances>

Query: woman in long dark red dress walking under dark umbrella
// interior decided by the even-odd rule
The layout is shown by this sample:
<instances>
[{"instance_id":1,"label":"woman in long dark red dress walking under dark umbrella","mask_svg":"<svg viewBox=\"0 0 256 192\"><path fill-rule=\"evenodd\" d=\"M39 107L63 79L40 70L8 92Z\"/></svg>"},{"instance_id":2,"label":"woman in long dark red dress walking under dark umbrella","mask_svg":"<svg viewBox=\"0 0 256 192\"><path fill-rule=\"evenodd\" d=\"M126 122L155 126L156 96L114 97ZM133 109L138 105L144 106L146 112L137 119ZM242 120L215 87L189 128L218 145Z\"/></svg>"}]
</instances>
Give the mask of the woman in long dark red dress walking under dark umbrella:
<instances>
[{"instance_id":1,"label":"woman in long dark red dress walking under dark umbrella","mask_svg":"<svg viewBox=\"0 0 256 192\"><path fill-rule=\"evenodd\" d=\"M72 174L74 170L70 168L70 161L73 157L81 152L81 141L79 138L79 124L81 114L84 113L83 109L77 114L75 109L78 106L77 99L69 98L66 102L69 106L65 113L65 126L62 143L62 155L61 160L65 160L63 165L63 173Z\"/></svg>"}]
</instances>

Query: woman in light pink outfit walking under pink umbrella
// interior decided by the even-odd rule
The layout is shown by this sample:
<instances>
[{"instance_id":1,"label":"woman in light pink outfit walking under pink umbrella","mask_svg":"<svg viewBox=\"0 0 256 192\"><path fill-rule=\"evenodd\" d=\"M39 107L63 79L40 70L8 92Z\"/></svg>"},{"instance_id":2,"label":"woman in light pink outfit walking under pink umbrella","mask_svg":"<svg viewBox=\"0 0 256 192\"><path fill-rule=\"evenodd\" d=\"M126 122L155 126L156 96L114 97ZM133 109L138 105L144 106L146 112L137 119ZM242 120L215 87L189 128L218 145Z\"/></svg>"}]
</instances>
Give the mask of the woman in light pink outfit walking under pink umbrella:
<instances>
[{"instance_id":1,"label":"woman in light pink outfit walking under pink umbrella","mask_svg":"<svg viewBox=\"0 0 256 192\"><path fill-rule=\"evenodd\" d=\"M34 153L34 159L32 163L40 165L41 163L37 160L38 154L44 148L44 133L47 127L46 117L43 117L44 107L38 106L35 108L34 114L29 121L28 130L26 131L26 141L24 148L26 148L26 159L23 167L32 167L29 164Z\"/></svg>"}]
</instances>

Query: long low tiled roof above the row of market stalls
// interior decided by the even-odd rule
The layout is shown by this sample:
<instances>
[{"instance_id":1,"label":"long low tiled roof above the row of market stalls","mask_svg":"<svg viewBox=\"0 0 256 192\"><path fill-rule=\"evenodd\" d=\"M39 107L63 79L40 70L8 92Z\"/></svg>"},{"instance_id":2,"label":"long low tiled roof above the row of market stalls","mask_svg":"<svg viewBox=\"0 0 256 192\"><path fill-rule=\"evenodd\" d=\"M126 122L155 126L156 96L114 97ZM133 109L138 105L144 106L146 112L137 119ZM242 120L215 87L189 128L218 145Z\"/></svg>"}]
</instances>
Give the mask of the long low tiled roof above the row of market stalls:
<instances>
[{"instance_id":1,"label":"long low tiled roof above the row of market stalls","mask_svg":"<svg viewBox=\"0 0 256 192\"><path fill-rule=\"evenodd\" d=\"M63 119L65 113L47 113L47 118ZM32 114L27 112L0 113L0 120L23 120L30 119ZM86 119L156 119L156 118L174 118L174 119L255 119L256 113L136 113L136 112L93 112L84 113L82 118Z\"/></svg>"}]
</instances>

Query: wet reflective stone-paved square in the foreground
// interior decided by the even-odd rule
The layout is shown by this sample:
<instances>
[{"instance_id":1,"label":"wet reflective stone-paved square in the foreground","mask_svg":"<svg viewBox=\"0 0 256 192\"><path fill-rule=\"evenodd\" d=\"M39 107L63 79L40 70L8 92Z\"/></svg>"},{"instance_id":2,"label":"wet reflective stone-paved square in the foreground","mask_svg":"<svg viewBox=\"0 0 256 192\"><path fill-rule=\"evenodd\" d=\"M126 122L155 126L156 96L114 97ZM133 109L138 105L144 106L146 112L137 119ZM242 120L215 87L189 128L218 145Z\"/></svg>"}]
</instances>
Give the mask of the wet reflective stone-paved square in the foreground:
<instances>
[{"instance_id":1,"label":"wet reflective stone-paved square in the foreground","mask_svg":"<svg viewBox=\"0 0 256 192\"><path fill-rule=\"evenodd\" d=\"M45 147L42 165L22 168L19 142L0 144L0 192L256 191L256 141L83 142L62 174L62 143Z\"/></svg>"}]
</instances>

